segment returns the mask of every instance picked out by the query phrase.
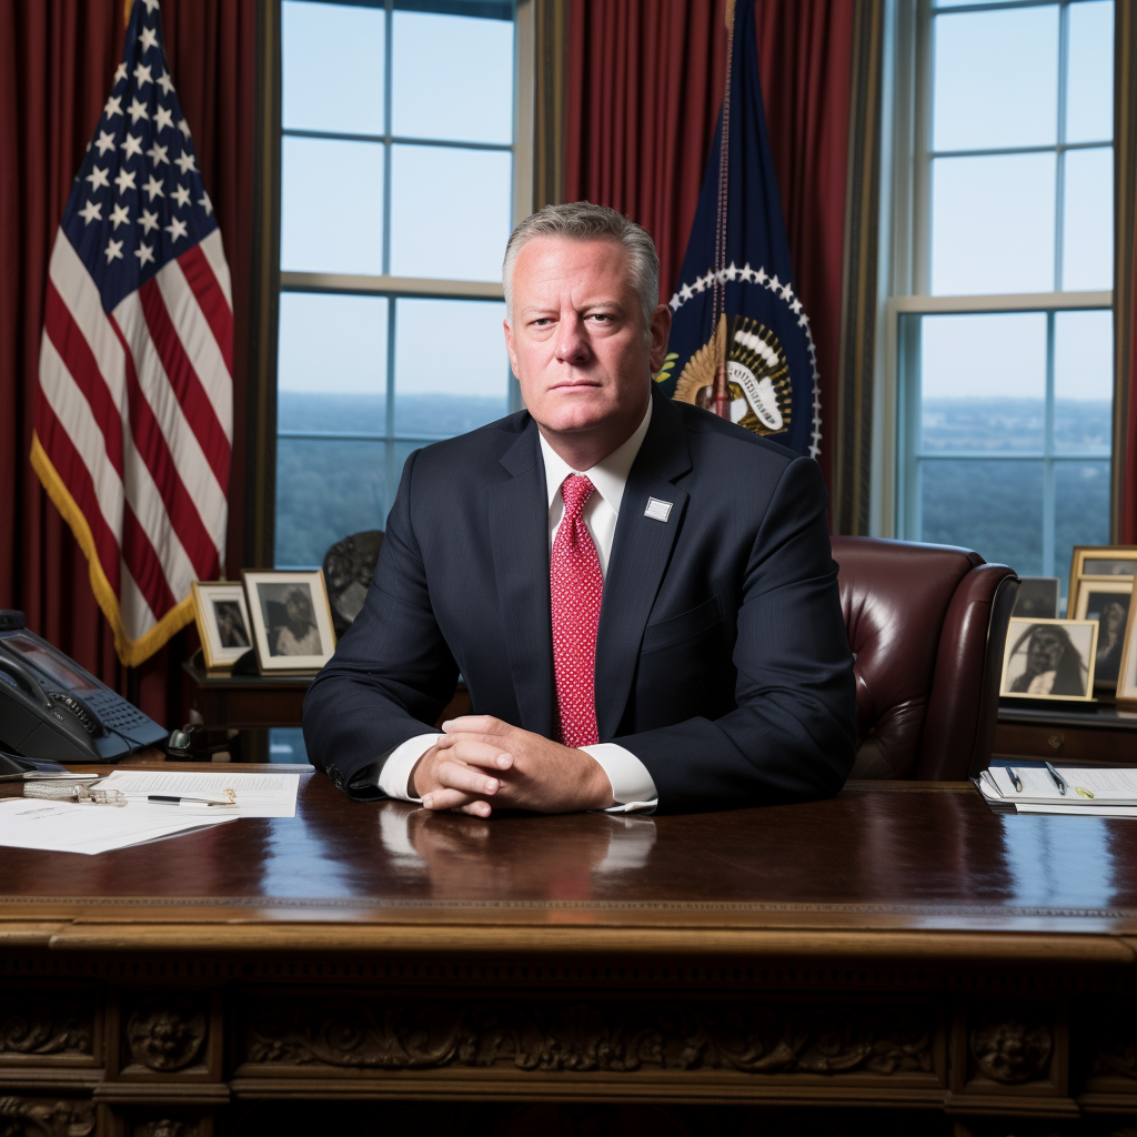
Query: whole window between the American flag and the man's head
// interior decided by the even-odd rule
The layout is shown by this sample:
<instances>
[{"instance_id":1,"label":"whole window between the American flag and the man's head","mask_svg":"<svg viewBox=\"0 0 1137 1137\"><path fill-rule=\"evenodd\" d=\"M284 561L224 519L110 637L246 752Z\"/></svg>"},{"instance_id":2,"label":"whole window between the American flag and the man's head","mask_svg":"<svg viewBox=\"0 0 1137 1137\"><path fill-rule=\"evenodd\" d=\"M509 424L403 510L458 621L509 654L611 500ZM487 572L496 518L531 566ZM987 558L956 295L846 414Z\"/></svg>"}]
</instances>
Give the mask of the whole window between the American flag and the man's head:
<instances>
[{"instance_id":1,"label":"whole window between the American flag and the man's head","mask_svg":"<svg viewBox=\"0 0 1137 1137\"><path fill-rule=\"evenodd\" d=\"M276 548L385 528L407 455L516 404L513 0L284 0Z\"/></svg>"}]
</instances>

